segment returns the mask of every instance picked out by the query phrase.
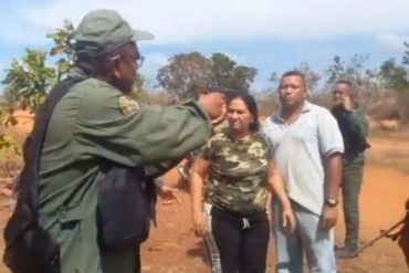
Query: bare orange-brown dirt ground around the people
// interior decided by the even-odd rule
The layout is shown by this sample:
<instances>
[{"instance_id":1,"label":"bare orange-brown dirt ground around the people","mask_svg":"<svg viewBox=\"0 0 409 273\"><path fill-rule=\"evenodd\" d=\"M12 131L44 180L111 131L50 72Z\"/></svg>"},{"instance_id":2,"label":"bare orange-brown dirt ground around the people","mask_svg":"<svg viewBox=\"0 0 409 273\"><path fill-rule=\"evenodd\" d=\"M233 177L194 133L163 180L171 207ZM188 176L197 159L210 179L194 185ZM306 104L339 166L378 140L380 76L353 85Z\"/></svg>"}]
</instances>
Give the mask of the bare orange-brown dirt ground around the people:
<instances>
[{"instance_id":1,"label":"bare orange-brown dirt ground around the people","mask_svg":"<svg viewBox=\"0 0 409 273\"><path fill-rule=\"evenodd\" d=\"M409 135L371 137L371 149L367 153L367 166L360 198L360 239L368 242L398 222L403 216L405 201L409 197ZM165 177L167 183L177 182L175 170ZM210 272L209 260L202 240L190 231L189 197L179 192L181 204L157 206L158 227L151 229L149 240L143 244L143 272L153 273L201 273ZM10 214L0 196L0 232ZM344 235L342 211L336 227L336 241ZM270 240L269 269L274 272L273 238ZM0 253L3 252L2 238ZM405 273L409 272L397 244L381 239L359 258L338 262L340 273ZM0 264L0 273L9 272ZM118 271L119 272L119 271Z\"/></svg>"}]
</instances>

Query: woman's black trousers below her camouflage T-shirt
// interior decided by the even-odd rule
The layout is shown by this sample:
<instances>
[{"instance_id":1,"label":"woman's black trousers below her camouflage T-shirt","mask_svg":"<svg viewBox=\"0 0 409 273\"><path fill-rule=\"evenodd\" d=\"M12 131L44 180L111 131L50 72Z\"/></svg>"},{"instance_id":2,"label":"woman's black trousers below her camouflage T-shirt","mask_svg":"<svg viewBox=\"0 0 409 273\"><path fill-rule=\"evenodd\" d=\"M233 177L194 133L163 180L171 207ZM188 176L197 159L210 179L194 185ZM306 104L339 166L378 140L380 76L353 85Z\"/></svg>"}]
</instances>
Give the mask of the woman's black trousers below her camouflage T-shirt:
<instances>
[{"instance_id":1,"label":"woman's black trousers below her camouflage T-shirt","mask_svg":"<svg viewBox=\"0 0 409 273\"><path fill-rule=\"evenodd\" d=\"M213 207L211 229L223 273L264 273L270 224L264 211L243 218Z\"/></svg>"}]
</instances>

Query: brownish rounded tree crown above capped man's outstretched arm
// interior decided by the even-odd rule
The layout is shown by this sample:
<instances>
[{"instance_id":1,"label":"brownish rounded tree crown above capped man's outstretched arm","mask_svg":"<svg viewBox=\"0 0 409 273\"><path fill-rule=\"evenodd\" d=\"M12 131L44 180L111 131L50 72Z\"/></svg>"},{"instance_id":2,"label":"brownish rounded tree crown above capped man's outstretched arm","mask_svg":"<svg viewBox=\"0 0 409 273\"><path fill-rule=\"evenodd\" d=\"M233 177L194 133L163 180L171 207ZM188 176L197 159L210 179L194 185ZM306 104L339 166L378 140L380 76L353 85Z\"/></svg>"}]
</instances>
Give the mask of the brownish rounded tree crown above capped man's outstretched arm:
<instances>
[{"instance_id":1,"label":"brownish rounded tree crown above capped man's outstretched arm","mask_svg":"<svg viewBox=\"0 0 409 273\"><path fill-rule=\"evenodd\" d=\"M212 64L199 52L176 54L156 78L172 102L193 98L213 83Z\"/></svg>"}]
</instances>

